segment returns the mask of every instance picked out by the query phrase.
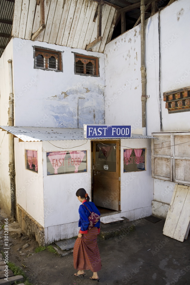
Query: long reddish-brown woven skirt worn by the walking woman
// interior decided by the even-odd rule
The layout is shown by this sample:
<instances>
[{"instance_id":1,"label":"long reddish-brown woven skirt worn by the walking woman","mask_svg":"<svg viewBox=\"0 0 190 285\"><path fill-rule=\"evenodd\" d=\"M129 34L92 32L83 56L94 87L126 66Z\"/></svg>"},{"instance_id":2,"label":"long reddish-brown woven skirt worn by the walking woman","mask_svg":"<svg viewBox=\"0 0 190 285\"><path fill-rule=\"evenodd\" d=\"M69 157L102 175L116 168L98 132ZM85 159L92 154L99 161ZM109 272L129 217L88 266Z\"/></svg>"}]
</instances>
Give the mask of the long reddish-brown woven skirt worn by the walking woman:
<instances>
[{"instance_id":1,"label":"long reddish-brown woven skirt worn by the walking woman","mask_svg":"<svg viewBox=\"0 0 190 285\"><path fill-rule=\"evenodd\" d=\"M73 265L77 270L101 270L101 259L97 245L97 227L88 230L81 238L77 238L73 249Z\"/></svg>"}]
</instances>

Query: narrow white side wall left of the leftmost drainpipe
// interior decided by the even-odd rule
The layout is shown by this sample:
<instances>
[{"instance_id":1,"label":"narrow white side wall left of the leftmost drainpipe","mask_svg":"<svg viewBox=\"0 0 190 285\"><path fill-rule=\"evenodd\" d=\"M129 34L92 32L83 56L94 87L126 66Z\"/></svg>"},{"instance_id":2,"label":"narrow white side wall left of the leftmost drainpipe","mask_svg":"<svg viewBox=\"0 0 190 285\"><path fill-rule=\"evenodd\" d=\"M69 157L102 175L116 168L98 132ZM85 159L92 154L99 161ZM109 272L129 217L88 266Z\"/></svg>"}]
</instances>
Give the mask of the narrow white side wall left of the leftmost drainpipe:
<instances>
[{"instance_id":1,"label":"narrow white side wall left of the leftmost drainpipe","mask_svg":"<svg viewBox=\"0 0 190 285\"><path fill-rule=\"evenodd\" d=\"M8 60L13 60L13 40L9 42L0 58L0 125L8 123L9 109L9 66ZM9 140L7 132L0 130L0 207L8 215L11 213L11 193L9 177Z\"/></svg>"}]
</instances>

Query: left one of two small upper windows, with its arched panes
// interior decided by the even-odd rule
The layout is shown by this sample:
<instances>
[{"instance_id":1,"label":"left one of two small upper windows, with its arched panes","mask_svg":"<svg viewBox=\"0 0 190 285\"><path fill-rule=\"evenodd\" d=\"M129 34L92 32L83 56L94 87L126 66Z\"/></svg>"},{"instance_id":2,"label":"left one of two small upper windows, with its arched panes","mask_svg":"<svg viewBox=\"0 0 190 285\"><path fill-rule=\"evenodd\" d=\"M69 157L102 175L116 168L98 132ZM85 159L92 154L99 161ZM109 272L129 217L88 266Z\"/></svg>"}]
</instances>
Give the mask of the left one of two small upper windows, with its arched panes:
<instances>
[{"instance_id":1,"label":"left one of two small upper windows, with its arched panes","mask_svg":"<svg viewBox=\"0 0 190 285\"><path fill-rule=\"evenodd\" d=\"M61 52L35 48L35 68L62 71Z\"/></svg>"}]
</instances>

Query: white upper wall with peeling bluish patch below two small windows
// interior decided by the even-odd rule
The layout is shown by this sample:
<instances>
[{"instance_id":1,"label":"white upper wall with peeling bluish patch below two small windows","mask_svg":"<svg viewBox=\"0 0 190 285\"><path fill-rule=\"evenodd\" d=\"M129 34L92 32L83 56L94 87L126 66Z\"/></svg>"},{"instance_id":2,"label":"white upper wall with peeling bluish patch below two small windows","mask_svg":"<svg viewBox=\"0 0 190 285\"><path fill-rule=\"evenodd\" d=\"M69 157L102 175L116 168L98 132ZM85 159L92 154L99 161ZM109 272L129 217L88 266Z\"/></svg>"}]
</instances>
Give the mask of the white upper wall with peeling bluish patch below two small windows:
<instances>
[{"instance_id":1,"label":"white upper wall with peeling bluish patch below two small windows","mask_svg":"<svg viewBox=\"0 0 190 285\"><path fill-rule=\"evenodd\" d=\"M34 68L33 46L62 52L63 72ZM74 54L97 56L99 77L74 74ZM104 55L45 42L13 39L15 125L79 128L104 124ZM21 68L22 67L22 68Z\"/></svg>"}]
</instances>

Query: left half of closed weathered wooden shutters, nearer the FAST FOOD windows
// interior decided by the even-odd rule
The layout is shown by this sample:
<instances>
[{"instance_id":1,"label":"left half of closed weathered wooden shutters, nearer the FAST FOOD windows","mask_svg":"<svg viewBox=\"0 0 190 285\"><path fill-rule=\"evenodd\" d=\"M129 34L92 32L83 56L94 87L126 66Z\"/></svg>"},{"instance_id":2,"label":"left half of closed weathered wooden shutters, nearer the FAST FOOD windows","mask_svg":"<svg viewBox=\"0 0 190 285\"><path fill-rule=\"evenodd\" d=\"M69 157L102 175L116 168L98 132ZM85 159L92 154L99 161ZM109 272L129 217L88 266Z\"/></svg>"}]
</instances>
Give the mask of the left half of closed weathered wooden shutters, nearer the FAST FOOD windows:
<instances>
[{"instance_id":1,"label":"left half of closed weathered wooden shutters, nearer the FAST FOOD windows","mask_svg":"<svg viewBox=\"0 0 190 285\"><path fill-rule=\"evenodd\" d=\"M152 139L152 177L172 181L172 143L170 133L155 133Z\"/></svg>"}]
</instances>

